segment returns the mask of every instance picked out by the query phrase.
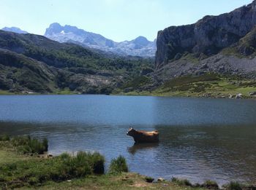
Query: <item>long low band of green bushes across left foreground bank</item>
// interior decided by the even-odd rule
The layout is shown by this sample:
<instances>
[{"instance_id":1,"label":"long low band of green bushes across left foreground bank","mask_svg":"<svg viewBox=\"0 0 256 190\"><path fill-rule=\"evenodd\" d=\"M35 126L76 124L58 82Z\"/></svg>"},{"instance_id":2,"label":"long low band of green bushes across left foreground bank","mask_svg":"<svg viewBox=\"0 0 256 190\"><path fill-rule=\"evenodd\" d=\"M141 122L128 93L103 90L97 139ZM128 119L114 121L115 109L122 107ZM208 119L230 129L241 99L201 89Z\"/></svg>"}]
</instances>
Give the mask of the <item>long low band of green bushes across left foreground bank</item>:
<instances>
[{"instance_id":1,"label":"long low band of green bushes across left foreground bank","mask_svg":"<svg viewBox=\"0 0 256 190\"><path fill-rule=\"evenodd\" d=\"M75 157L67 153L52 159L30 159L0 166L0 186L9 189L37 186L46 181L66 181L87 175L103 174L105 159L99 153L78 152ZM103 168L103 170L102 170ZM96 171L97 173L95 173Z\"/></svg>"}]
</instances>

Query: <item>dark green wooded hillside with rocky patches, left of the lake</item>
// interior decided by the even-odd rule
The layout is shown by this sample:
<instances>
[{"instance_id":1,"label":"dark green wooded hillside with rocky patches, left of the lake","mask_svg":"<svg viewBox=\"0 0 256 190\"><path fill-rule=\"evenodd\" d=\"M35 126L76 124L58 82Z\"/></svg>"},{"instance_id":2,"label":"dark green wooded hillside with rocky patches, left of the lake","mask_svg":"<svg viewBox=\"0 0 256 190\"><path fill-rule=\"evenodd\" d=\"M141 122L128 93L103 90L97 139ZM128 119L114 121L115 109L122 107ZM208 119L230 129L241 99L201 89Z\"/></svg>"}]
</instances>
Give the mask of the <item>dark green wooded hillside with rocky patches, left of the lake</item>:
<instances>
[{"instance_id":1,"label":"dark green wooded hillside with rocky patches, left of the lake","mask_svg":"<svg viewBox=\"0 0 256 190\"><path fill-rule=\"evenodd\" d=\"M108 94L152 63L0 30L0 90Z\"/></svg>"}]
</instances>

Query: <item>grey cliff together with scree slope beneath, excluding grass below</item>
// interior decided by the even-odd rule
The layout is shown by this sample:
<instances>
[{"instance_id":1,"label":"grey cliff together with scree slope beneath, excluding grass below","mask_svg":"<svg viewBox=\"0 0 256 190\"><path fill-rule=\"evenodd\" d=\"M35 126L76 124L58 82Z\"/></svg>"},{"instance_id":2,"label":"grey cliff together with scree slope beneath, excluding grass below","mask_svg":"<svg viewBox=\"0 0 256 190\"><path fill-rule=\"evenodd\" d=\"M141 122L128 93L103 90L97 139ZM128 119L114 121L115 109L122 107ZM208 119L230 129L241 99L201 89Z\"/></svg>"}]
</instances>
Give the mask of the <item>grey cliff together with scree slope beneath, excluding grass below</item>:
<instances>
[{"instance_id":1,"label":"grey cliff together with scree slope beneath, excluding grass below","mask_svg":"<svg viewBox=\"0 0 256 190\"><path fill-rule=\"evenodd\" d=\"M155 67L166 79L186 74L239 74L255 78L256 1L157 35ZM167 74L165 75L164 72Z\"/></svg>"}]
</instances>

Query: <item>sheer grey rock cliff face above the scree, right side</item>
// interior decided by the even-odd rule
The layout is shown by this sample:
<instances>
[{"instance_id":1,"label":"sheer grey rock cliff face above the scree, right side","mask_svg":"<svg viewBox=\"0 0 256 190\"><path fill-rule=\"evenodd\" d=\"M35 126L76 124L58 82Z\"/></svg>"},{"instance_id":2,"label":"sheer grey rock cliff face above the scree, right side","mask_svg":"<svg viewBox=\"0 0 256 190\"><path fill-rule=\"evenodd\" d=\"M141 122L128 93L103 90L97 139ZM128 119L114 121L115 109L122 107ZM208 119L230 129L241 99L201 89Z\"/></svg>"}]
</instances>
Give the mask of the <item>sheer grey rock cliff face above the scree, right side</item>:
<instances>
[{"instance_id":1,"label":"sheer grey rock cliff face above the scree, right side","mask_svg":"<svg viewBox=\"0 0 256 190\"><path fill-rule=\"evenodd\" d=\"M165 28L157 35L156 68L162 68L188 53L199 60L217 55L227 47L236 46L255 25L256 1L253 1L233 12L203 17L192 25Z\"/></svg>"}]
</instances>

